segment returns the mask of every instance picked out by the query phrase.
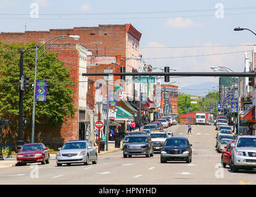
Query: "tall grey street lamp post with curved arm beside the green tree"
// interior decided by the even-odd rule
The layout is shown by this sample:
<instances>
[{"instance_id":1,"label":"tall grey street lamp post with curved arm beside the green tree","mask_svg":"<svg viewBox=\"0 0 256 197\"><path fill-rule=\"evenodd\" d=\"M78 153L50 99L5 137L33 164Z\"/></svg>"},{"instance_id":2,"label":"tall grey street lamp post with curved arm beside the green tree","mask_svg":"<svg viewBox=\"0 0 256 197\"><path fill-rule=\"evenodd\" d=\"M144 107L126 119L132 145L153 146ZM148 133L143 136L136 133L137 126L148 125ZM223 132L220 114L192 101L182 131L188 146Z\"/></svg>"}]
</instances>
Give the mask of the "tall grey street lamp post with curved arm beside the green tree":
<instances>
[{"instance_id":1,"label":"tall grey street lamp post with curved arm beside the green tree","mask_svg":"<svg viewBox=\"0 0 256 197\"><path fill-rule=\"evenodd\" d=\"M31 132L31 143L34 143L34 135L35 135L35 108L36 108L36 73L37 73L37 65L38 65L38 59L48 50L52 44L54 44L59 39L64 38L73 38L75 40L78 40L80 36L76 35L63 35L63 36L55 36L54 38L49 39L46 41L42 46L38 47L36 46L36 57L35 57L35 79L34 79L34 90L33 90L33 113L32 113L32 132ZM54 40L55 39L55 40ZM44 49L43 53L38 56L38 50L41 49L43 46L47 44L47 42L54 40L47 49Z\"/></svg>"}]
</instances>

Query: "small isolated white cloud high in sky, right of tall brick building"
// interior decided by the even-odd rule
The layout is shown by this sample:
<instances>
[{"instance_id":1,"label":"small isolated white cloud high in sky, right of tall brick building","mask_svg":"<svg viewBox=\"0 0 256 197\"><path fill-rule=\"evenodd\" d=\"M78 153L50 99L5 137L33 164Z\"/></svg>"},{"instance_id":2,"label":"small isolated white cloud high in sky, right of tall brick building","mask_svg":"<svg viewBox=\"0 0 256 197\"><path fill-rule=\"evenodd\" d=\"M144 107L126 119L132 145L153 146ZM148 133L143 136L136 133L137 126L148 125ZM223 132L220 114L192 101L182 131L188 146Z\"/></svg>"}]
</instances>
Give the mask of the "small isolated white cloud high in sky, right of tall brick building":
<instances>
[{"instance_id":1,"label":"small isolated white cloud high in sky, right of tall brick building","mask_svg":"<svg viewBox=\"0 0 256 197\"><path fill-rule=\"evenodd\" d=\"M168 18L164 24L167 28L191 28L194 25L191 19L183 20L181 17Z\"/></svg>"}]
</instances>

